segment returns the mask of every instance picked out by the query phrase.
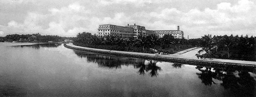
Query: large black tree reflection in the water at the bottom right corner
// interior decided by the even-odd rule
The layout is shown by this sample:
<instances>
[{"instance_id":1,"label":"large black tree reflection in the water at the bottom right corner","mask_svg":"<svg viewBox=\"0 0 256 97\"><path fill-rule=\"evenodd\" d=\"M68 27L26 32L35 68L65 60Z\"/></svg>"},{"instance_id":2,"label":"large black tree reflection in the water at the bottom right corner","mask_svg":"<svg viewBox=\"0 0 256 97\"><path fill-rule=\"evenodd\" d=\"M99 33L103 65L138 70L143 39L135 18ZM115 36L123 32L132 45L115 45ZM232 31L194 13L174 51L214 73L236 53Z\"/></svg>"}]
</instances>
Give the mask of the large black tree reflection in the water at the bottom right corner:
<instances>
[{"instance_id":1,"label":"large black tree reflection in the water at the bottom right corner","mask_svg":"<svg viewBox=\"0 0 256 97\"><path fill-rule=\"evenodd\" d=\"M201 73L196 73L204 85L216 84L214 80L222 82L225 89L240 96L256 96L256 74L254 70L212 68L197 66ZM248 72L251 71L251 72Z\"/></svg>"}]
</instances>

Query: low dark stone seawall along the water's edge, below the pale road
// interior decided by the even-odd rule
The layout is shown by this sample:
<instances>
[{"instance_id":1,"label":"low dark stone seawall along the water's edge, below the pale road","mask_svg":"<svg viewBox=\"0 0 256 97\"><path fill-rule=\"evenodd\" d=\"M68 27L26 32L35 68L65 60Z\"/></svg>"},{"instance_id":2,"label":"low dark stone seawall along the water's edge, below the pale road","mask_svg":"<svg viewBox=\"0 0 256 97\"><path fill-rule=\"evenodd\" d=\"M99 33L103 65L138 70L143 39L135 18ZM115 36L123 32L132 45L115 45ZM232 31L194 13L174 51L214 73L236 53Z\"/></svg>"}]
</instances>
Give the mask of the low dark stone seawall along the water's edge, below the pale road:
<instances>
[{"instance_id":1,"label":"low dark stone seawall along the water's edge, below the pale road","mask_svg":"<svg viewBox=\"0 0 256 97\"><path fill-rule=\"evenodd\" d=\"M142 58L148 60L157 60L157 61L167 61L167 62L176 62L176 63L184 63L190 65L202 65L202 66L220 66L220 67L245 67L250 68L256 67L256 64L242 64L242 63L230 63L230 62L218 62L218 61L208 61L208 60L195 60L195 59L186 59L186 58L175 58L175 57L163 57L163 56L150 56L150 55L143 55L143 54L132 54L130 52L127 53L120 53L120 52L110 52L110 51L100 51L100 50L93 50L93 49L84 49L78 47L72 47L64 44L66 48L74 49L74 50L81 50L87 52L94 52L100 54L107 54L107 55L116 55L116 56L125 56L125 57L132 57L132 58Z\"/></svg>"}]
</instances>

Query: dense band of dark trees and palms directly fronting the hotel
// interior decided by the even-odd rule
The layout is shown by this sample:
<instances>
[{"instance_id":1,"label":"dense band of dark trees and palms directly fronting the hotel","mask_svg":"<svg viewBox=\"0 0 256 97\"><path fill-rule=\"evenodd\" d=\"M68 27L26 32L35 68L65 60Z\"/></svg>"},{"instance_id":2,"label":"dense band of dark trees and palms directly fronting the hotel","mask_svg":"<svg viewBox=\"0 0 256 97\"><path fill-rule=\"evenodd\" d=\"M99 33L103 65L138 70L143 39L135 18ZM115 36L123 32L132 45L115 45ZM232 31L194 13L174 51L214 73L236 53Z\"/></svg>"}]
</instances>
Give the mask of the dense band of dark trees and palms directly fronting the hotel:
<instances>
[{"instance_id":1,"label":"dense band of dark trees and palms directly fronting the hotel","mask_svg":"<svg viewBox=\"0 0 256 97\"><path fill-rule=\"evenodd\" d=\"M144 52L144 53L155 53L152 49L163 50L170 45L175 46L177 50L177 45L197 45L198 39L178 39L171 35L165 35L159 38L157 35L145 36L140 34L138 39L133 37L123 38L121 35L92 35L88 32L78 33L73 44L79 46L86 46L99 49L109 49L109 50L119 50L119 51L132 51L132 52ZM170 52L165 52L169 53Z\"/></svg>"}]
</instances>

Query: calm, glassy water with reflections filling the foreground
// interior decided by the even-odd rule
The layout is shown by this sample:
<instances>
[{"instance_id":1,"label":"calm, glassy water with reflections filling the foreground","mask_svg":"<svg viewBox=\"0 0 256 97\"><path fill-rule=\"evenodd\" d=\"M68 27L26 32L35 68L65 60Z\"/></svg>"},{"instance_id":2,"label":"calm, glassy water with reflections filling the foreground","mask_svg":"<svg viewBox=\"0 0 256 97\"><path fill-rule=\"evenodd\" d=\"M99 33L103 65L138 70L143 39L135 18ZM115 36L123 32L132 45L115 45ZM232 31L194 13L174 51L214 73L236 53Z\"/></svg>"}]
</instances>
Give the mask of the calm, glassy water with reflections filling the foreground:
<instances>
[{"instance_id":1,"label":"calm, glassy water with reflections filling the foreground","mask_svg":"<svg viewBox=\"0 0 256 97\"><path fill-rule=\"evenodd\" d=\"M0 43L0 96L256 96L255 68L204 67ZM240 67L237 67L240 68Z\"/></svg>"}]
</instances>

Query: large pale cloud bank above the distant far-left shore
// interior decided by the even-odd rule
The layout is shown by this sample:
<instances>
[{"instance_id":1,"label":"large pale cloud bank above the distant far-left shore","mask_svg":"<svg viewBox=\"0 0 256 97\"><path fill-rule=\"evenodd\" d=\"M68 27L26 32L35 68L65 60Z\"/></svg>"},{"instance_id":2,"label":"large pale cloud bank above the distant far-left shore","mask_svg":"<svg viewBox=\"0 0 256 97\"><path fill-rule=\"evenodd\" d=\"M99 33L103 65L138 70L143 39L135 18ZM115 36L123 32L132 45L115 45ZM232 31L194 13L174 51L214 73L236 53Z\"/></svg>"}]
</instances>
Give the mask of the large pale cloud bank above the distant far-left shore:
<instances>
[{"instance_id":1,"label":"large pale cloud bank above the distant far-left shore","mask_svg":"<svg viewBox=\"0 0 256 97\"><path fill-rule=\"evenodd\" d=\"M41 33L47 35L59 35L59 36L75 36L77 32L83 32L86 30L86 18L85 14L90 11L85 10L85 7L78 3L72 3L68 7L62 7L60 9L51 8L49 13L42 14L38 12L28 12L23 23L17 23L12 20L7 26L1 26L0 29L3 32L12 32L17 34L24 34L29 32ZM77 30L80 28L80 31ZM77 31L74 33L74 31Z\"/></svg>"}]
</instances>

